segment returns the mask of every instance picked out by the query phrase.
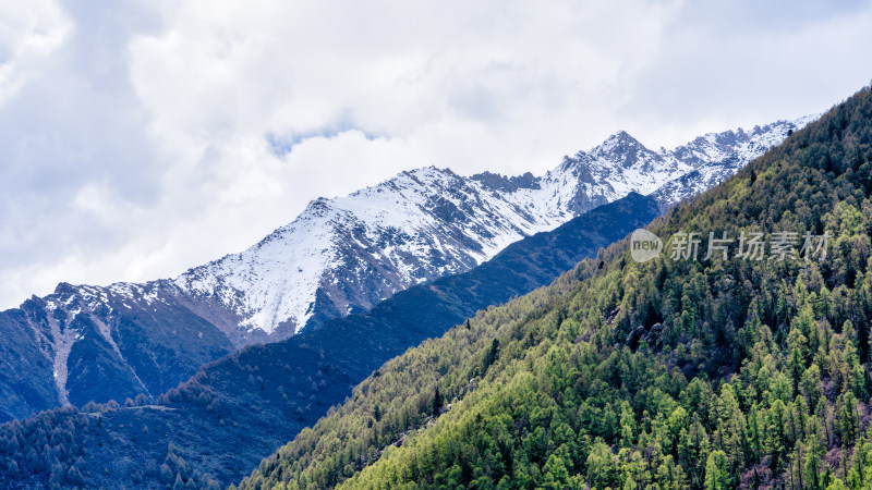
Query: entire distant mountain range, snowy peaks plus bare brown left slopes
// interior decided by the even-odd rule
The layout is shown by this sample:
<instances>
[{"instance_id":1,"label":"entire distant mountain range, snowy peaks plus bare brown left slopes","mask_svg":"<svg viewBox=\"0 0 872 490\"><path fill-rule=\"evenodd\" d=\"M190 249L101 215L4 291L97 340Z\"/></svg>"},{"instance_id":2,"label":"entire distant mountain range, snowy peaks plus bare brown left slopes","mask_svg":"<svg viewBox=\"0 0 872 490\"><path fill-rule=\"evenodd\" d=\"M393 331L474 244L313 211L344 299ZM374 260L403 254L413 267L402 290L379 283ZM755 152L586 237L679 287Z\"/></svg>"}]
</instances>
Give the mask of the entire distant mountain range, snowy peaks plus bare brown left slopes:
<instances>
[{"instance_id":1,"label":"entire distant mountain range, snowy peaks plus bare brown left slopes","mask_svg":"<svg viewBox=\"0 0 872 490\"><path fill-rule=\"evenodd\" d=\"M630 192L668 207L812 119L657 151L619 132L543 176L402 172L347 197L317 199L251 248L174 280L62 283L0 314L0 421L68 403L155 397L204 363L469 271Z\"/></svg>"}]
</instances>

